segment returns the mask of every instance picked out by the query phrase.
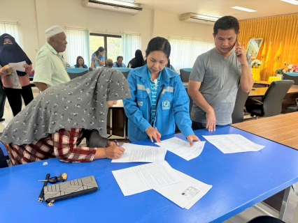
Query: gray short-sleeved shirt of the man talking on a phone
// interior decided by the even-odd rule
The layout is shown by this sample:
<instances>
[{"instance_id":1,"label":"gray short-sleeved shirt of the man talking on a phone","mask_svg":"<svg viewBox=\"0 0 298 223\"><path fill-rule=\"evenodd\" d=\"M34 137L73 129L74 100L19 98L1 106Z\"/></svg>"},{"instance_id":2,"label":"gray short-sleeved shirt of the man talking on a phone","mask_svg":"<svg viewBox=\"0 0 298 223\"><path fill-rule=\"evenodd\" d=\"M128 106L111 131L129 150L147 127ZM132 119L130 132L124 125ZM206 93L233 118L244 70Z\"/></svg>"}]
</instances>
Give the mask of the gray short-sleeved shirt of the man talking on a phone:
<instances>
[{"instance_id":1,"label":"gray short-sleeved shirt of the man talking on a phone","mask_svg":"<svg viewBox=\"0 0 298 223\"><path fill-rule=\"evenodd\" d=\"M248 56L247 56L248 57ZM250 66L250 59L248 59ZM215 48L197 57L192 67L190 80L201 82L199 92L213 107L216 125L232 123L236 94L240 84L241 63L234 50L225 58L218 54ZM192 105L192 121L206 123L206 112L195 103Z\"/></svg>"}]
</instances>

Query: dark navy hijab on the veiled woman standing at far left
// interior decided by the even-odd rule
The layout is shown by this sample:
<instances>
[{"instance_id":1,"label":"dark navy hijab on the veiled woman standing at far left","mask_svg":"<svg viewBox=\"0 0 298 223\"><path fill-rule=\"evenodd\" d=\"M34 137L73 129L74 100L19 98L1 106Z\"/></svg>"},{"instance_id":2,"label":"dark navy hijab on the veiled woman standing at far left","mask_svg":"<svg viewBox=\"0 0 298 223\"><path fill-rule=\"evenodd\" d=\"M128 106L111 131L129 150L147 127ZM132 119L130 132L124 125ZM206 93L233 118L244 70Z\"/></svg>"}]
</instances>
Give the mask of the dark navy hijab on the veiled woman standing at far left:
<instances>
[{"instance_id":1,"label":"dark navy hijab on the veiled woman standing at far left","mask_svg":"<svg viewBox=\"0 0 298 223\"><path fill-rule=\"evenodd\" d=\"M6 48L6 46L3 45L3 41L5 38L8 38L11 42L13 42L10 49ZM15 42L15 38L7 33L2 34L0 36L0 65L3 67L8 65L8 63L19 63L22 61L26 61L28 65L32 64L22 48ZM26 72L17 70L17 75L22 77L26 75Z\"/></svg>"}]
</instances>

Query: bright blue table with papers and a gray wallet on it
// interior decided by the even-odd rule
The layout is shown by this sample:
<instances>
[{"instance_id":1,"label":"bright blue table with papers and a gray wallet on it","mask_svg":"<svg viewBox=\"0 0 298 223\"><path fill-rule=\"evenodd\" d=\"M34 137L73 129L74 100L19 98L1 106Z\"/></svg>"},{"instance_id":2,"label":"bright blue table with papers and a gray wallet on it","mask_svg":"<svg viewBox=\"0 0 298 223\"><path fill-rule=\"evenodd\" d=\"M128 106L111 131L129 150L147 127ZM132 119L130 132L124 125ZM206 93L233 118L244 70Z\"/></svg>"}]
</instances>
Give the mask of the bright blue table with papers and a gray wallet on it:
<instances>
[{"instance_id":1,"label":"bright blue table with papers and a gray wallet on it","mask_svg":"<svg viewBox=\"0 0 298 223\"><path fill-rule=\"evenodd\" d=\"M57 159L0 169L0 222L224 222L243 210L290 187L298 181L298 151L225 126L215 132L195 131L199 139L208 134L242 134L266 146L258 152L224 154L206 141L199 157L186 161L167 152L171 167L213 185L186 210L154 190L125 197L111 171L142 163L63 163ZM184 138L182 134L177 137ZM168 137L162 137L167 139ZM149 140L139 142L153 145ZM43 165L44 162L48 164ZM52 207L38 203L46 174L66 172L68 180L94 175L100 190L58 201Z\"/></svg>"}]
</instances>

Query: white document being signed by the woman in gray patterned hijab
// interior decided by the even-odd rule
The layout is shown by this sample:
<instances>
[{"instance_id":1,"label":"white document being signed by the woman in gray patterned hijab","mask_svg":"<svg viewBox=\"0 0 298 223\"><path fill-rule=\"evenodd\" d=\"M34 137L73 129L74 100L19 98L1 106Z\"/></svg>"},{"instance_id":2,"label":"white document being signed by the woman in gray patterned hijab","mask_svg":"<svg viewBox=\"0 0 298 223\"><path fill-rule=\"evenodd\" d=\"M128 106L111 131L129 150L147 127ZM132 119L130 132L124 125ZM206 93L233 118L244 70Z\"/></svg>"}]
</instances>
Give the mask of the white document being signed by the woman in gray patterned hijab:
<instances>
[{"instance_id":1,"label":"white document being signed by the woman in gray patterned hijab","mask_svg":"<svg viewBox=\"0 0 298 223\"><path fill-rule=\"evenodd\" d=\"M125 153L112 162L157 162L164 160L164 149L154 146L123 144Z\"/></svg>"}]
</instances>

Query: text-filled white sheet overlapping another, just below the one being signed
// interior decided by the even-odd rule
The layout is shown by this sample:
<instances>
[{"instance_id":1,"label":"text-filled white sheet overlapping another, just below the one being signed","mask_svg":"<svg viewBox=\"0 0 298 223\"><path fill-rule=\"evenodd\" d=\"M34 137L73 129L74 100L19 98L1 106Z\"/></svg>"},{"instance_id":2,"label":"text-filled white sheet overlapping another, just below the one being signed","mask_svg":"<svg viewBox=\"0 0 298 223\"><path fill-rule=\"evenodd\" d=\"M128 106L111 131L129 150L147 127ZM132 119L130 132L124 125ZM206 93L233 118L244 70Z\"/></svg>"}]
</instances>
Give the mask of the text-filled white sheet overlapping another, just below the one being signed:
<instances>
[{"instance_id":1,"label":"text-filled white sheet overlapping another, just below the one being signed","mask_svg":"<svg viewBox=\"0 0 298 223\"><path fill-rule=\"evenodd\" d=\"M125 196L182 181L165 160L120 169L112 173Z\"/></svg>"}]
</instances>

